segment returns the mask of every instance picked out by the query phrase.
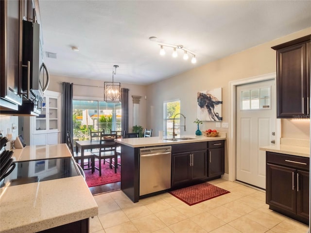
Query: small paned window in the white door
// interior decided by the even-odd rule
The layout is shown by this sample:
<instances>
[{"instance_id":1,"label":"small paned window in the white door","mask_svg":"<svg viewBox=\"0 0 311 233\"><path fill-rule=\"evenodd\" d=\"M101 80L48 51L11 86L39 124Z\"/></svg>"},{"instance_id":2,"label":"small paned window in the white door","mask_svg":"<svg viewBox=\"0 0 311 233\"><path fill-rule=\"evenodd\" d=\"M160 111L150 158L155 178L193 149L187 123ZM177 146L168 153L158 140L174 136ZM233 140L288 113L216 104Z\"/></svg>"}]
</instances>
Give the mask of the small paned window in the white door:
<instances>
[{"instance_id":1,"label":"small paned window in the white door","mask_svg":"<svg viewBox=\"0 0 311 233\"><path fill-rule=\"evenodd\" d=\"M242 91L241 109L271 109L270 87Z\"/></svg>"}]
</instances>

